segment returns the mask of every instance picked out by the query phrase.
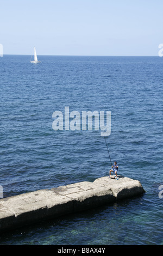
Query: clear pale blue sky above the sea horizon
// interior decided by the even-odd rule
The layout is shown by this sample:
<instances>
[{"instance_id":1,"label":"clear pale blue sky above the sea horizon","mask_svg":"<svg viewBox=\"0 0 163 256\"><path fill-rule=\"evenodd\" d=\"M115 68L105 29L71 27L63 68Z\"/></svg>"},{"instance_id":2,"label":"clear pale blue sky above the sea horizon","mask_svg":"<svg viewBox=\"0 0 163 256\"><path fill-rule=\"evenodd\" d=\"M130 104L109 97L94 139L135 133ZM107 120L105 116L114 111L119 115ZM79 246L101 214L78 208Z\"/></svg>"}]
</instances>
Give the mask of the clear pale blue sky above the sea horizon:
<instances>
[{"instance_id":1,"label":"clear pale blue sky above the sea horizon","mask_svg":"<svg viewBox=\"0 0 163 256\"><path fill-rule=\"evenodd\" d=\"M158 56L163 0L1 0L4 54Z\"/></svg>"}]
</instances>

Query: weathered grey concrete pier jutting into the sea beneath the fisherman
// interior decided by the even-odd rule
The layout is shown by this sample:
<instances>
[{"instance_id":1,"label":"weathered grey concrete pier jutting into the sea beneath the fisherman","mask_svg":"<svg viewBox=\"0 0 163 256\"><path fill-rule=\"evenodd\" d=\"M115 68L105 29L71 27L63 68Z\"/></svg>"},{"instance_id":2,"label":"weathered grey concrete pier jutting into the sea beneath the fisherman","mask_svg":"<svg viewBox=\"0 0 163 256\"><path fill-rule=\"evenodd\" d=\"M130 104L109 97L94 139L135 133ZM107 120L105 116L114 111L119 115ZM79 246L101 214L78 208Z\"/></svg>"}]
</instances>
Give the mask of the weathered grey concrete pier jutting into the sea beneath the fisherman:
<instances>
[{"instance_id":1,"label":"weathered grey concrete pier jutting into the sea beneath the fisherman","mask_svg":"<svg viewBox=\"0 0 163 256\"><path fill-rule=\"evenodd\" d=\"M94 182L39 190L0 199L0 232L144 193L138 180L108 176Z\"/></svg>"}]
</instances>

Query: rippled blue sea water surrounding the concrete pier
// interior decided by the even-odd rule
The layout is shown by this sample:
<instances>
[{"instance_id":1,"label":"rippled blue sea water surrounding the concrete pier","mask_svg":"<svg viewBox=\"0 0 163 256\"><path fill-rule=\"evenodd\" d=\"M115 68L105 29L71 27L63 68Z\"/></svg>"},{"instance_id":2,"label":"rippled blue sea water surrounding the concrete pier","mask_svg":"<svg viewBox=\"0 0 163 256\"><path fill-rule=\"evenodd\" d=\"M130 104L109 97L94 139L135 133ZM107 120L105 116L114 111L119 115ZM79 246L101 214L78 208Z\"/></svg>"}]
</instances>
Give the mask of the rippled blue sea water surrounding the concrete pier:
<instances>
[{"instance_id":1,"label":"rippled blue sea water surrounding the concrete pier","mask_svg":"<svg viewBox=\"0 0 163 256\"><path fill-rule=\"evenodd\" d=\"M161 57L0 57L3 196L109 175L100 131L54 131L54 111L111 111L106 137L119 174L146 193L23 227L1 245L163 245Z\"/></svg>"}]
</instances>

